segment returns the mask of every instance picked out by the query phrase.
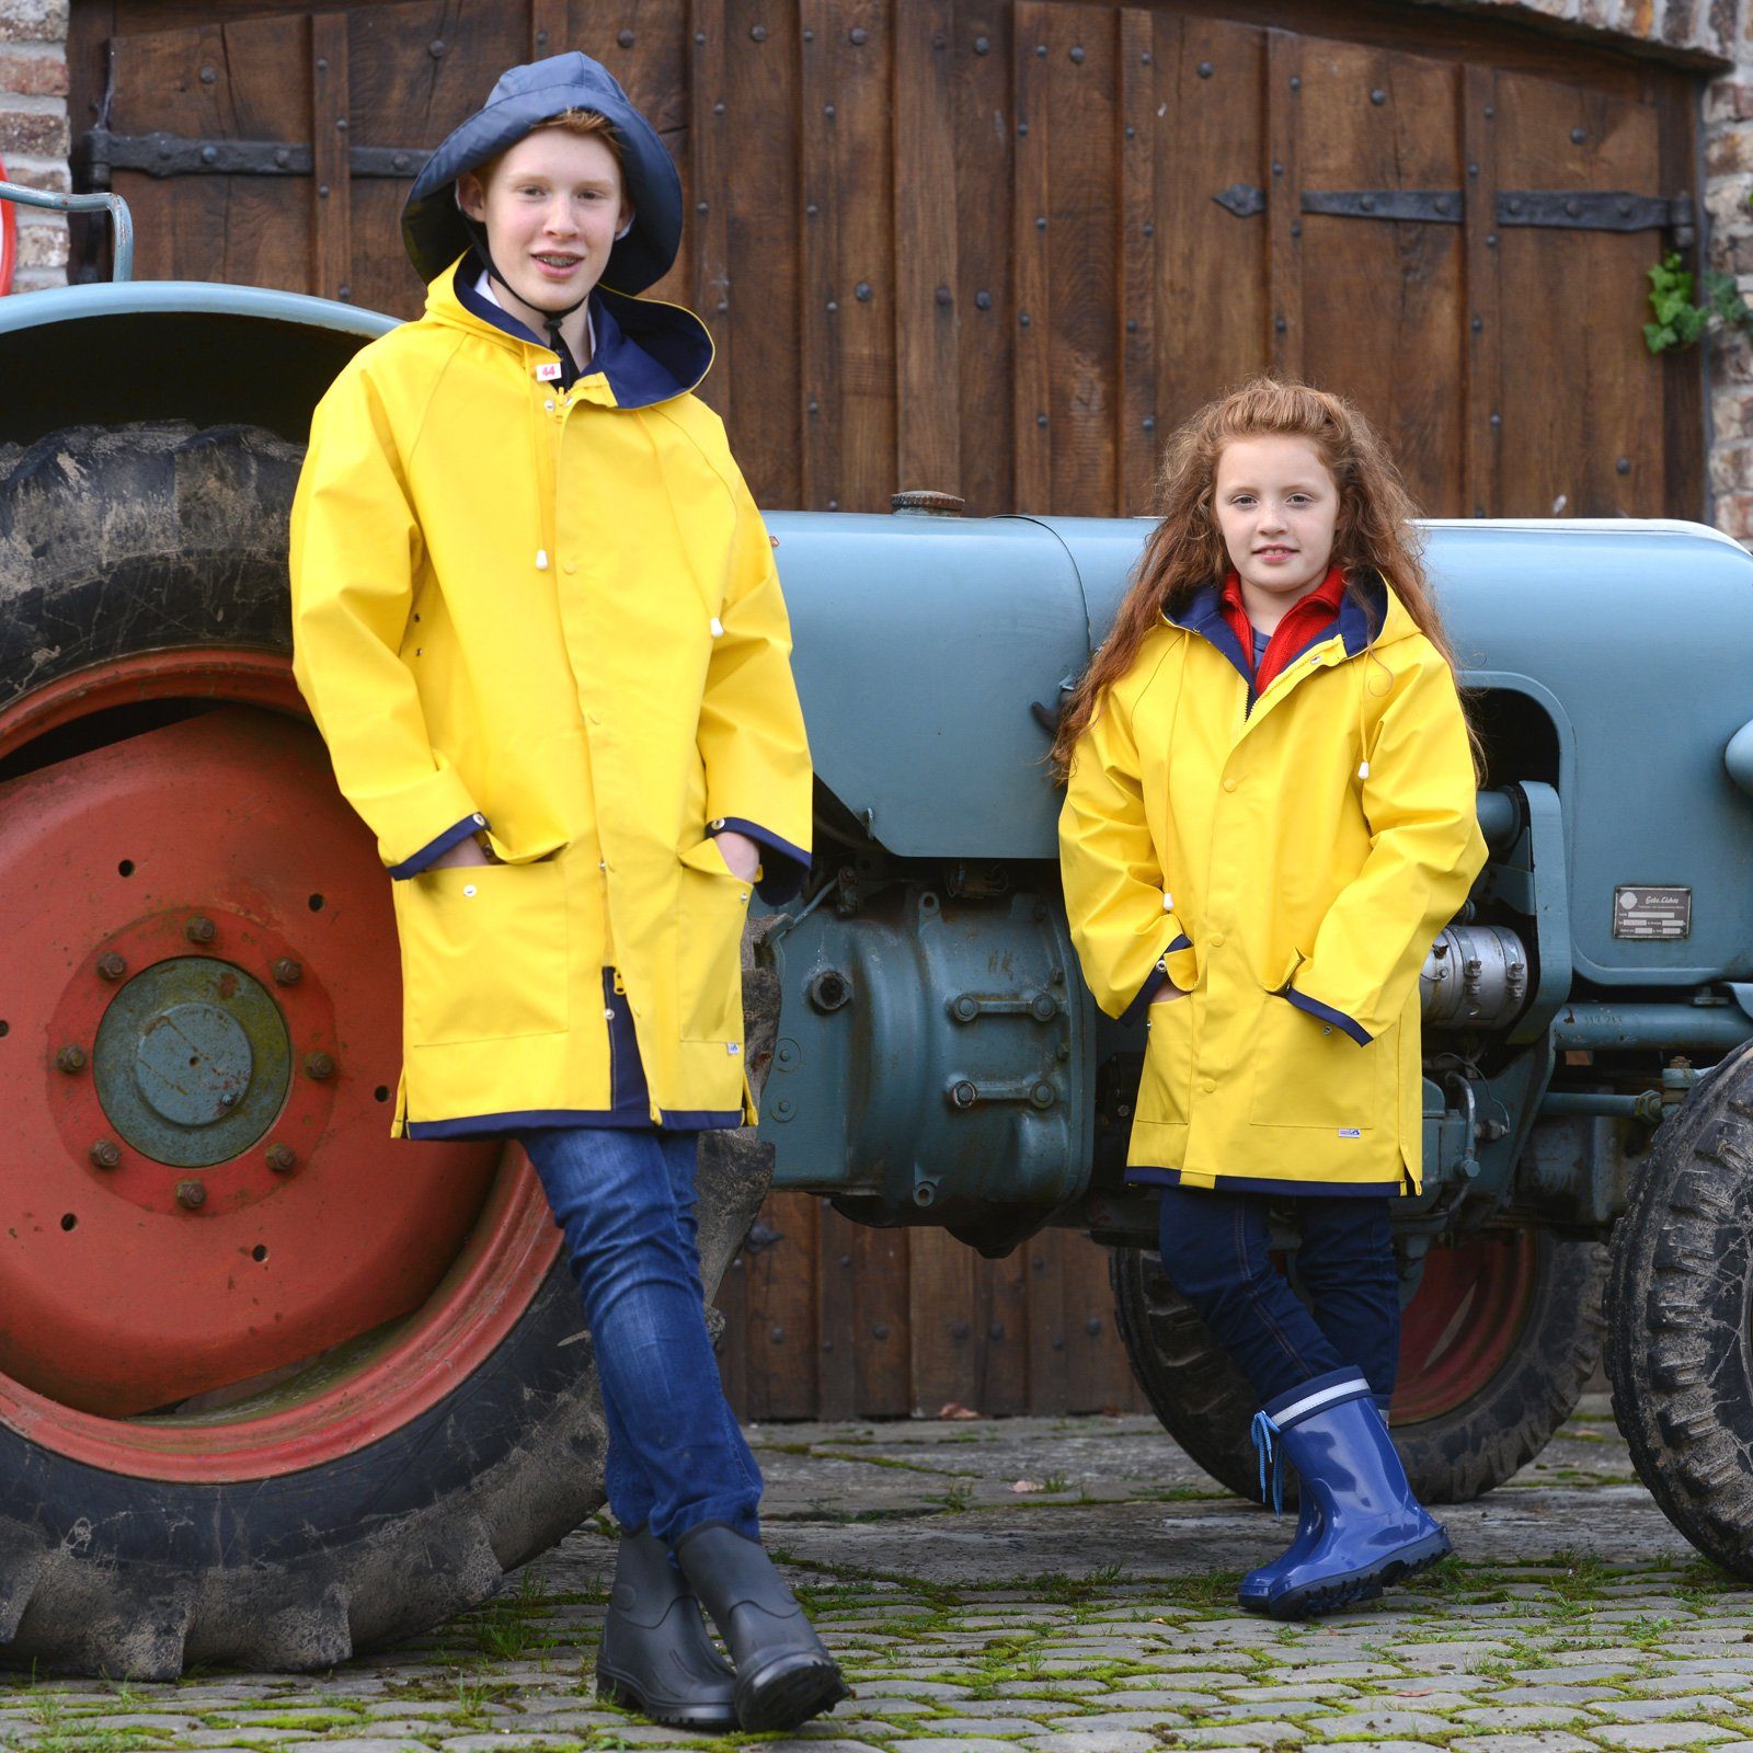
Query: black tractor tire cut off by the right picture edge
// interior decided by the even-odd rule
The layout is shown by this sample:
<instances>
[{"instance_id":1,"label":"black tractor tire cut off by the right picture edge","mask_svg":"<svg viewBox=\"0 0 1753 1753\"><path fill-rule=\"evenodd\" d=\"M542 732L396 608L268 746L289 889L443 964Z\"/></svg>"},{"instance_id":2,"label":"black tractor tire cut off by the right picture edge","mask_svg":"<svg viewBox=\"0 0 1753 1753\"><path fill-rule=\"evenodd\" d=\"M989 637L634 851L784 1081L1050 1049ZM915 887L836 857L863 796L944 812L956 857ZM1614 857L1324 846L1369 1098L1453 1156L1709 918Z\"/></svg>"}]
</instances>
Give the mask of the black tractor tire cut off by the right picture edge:
<instances>
[{"instance_id":1,"label":"black tractor tire cut off by the right picture edge","mask_svg":"<svg viewBox=\"0 0 1753 1753\"><path fill-rule=\"evenodd\" d=\"M1662 1122L1613 1231L1608 1378L1637 1478L1753 1579L1753 1050Z\"/></svg>"}]
</instances>

